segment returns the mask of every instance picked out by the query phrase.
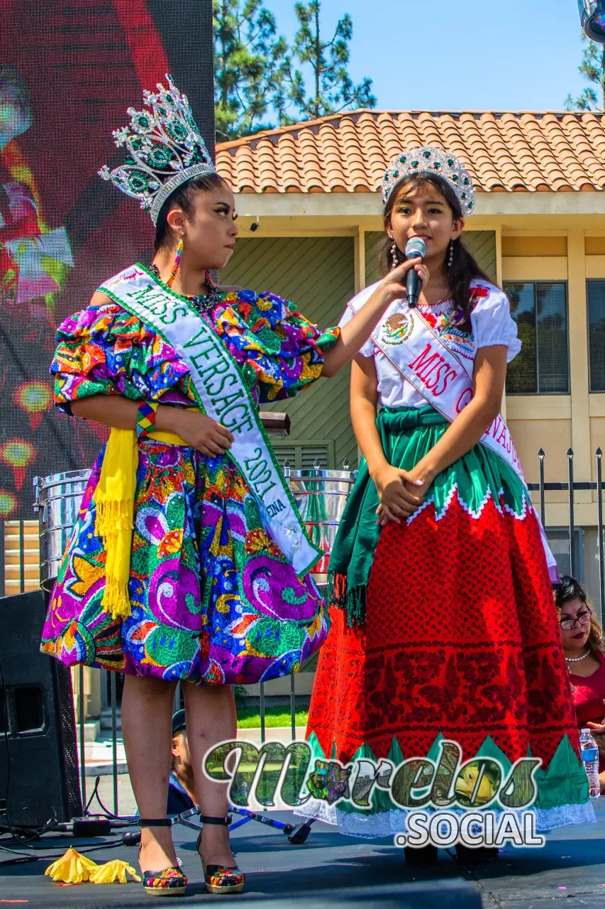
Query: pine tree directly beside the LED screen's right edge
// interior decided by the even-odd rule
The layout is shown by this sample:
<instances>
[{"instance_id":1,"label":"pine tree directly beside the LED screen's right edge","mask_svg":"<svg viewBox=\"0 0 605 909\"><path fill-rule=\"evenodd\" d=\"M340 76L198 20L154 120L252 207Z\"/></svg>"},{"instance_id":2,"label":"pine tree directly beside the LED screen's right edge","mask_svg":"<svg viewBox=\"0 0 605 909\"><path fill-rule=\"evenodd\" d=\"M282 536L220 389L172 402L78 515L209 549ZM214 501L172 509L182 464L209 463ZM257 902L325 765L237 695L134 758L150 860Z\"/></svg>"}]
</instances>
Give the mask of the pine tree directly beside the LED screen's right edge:
<instances>
[{"instance_id":1,"label":"pine tree directly beside the LED screen's right edge","mask_svg":"<svg viewBox=\"0 0 605 909\"><path fill-rule=\"evenodd\" d=\"M219 142L251 135L281 98L288 47L263 0L213 0L214 113Z\"/></svg>"}]
</instances>

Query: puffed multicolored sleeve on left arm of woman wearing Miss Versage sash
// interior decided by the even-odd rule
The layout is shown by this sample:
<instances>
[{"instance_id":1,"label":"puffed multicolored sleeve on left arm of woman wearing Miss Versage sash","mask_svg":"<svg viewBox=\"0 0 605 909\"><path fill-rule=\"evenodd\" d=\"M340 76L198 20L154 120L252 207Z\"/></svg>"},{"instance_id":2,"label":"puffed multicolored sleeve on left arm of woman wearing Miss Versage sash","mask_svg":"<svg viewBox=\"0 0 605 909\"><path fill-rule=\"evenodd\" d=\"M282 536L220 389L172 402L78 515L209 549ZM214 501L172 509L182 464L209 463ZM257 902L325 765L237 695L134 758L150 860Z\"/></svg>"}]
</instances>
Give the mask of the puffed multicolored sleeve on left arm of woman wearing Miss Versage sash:
<instances>
[{"instance_id":1,"label":"puffed multicolored sleeve on left arm of woman wearing Miss Versage sash","mask_svg":"<svg viewBox=\"0 0 605 909\"><path fill-rule=\"evenodd\" d=\"M65 319L57 342L50 371L55 404L67 414L70 402L94 395L155 400L187 371L171 347L113 303Z\"/></svg>"}]
</instances>

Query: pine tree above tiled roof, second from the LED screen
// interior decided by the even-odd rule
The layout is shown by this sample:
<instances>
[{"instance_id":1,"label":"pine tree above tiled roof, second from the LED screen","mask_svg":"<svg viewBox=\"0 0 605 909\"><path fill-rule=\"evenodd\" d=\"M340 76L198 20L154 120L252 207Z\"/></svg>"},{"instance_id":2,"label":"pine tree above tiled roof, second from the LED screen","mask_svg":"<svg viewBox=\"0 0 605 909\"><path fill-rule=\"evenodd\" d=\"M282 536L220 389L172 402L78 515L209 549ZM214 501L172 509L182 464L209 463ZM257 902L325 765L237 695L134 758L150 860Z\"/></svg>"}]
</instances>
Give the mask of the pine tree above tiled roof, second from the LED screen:
<instances>
[{"instance_id":1,"label":"pine tree above tiled roof, second from the LED screen","mask_svg":"<svg viewBox=\"0 0 605 909\"><path fill-rule=\"evenodd\" d=\"M278 92L274 101L282 124L293 122L291 112L296 119L315 120L345 109L376 105L372 79L365 78L359 85L353 85L347 71L350 57L348 45L352 39L351 16L348 13L343 15L332 38L326 40L320 24L321 6L320 0L294 5L300 27L294 35L292 55L283 67L283 91ZM311 66L310 94L300 69L293 69L295 62Z\"/></svg>"}]
</instances>

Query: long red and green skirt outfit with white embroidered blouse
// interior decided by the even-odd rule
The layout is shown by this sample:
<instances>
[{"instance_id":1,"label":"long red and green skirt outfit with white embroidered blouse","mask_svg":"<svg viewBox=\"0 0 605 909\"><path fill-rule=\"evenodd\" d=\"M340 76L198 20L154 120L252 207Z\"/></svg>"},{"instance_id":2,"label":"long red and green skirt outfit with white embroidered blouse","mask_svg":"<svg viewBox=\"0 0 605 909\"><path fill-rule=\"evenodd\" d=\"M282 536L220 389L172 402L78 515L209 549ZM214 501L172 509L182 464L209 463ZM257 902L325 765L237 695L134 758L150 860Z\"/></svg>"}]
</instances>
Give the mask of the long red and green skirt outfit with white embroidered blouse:
<instances>
[{"instance_id":1,"label":"long red and green skirt outfit with white embroidered blouse","mask_svg":"<svg viewBox=\"0 0 605 909\"><path fill-rule=\"evenodd\" d=\"M510 361L521 344L505 295L480 283L472 293L470 333L451 328L449 301L420 307L422 315L460 360L506 345ZM374 332L385 350L403 343L401 324L395 305ZM385 457L411 470L449 424L372 341L362 354L378 374ZM516 760L540 757L539 828L590 821L540 525L520 478L475 445L436 477L407 522L379 528L378 504L362 461L330 563L332 629L307 728L315 756L397 766L436 759L445 738L460 744L463 761L496 759L506 774ZM406 823L380 790L369 810L315 801L299 812L362 836Z\"/></svg>"}]
</instances>

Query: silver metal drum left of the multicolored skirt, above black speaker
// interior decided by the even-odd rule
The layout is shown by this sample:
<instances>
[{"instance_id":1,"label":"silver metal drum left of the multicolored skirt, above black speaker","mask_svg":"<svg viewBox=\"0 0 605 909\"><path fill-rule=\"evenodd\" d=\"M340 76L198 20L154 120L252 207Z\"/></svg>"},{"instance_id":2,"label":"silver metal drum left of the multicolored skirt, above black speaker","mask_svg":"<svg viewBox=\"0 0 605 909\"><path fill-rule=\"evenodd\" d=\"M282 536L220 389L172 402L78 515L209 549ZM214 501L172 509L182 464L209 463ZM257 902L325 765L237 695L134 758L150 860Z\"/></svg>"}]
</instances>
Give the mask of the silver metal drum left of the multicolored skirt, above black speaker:
<instances>
[{"instance_id":1,"label":"silver metal drum left of the multicolored skirt, above black speaker","mask_svg":"<svg viewBox=\"0 0 605 909\"><path fill-rule=\"evenodd\" d=\"M36 476L34 510L40 522L40 586L52 590L80 510L89 470Z\"/></svg>"}]
</instances>

